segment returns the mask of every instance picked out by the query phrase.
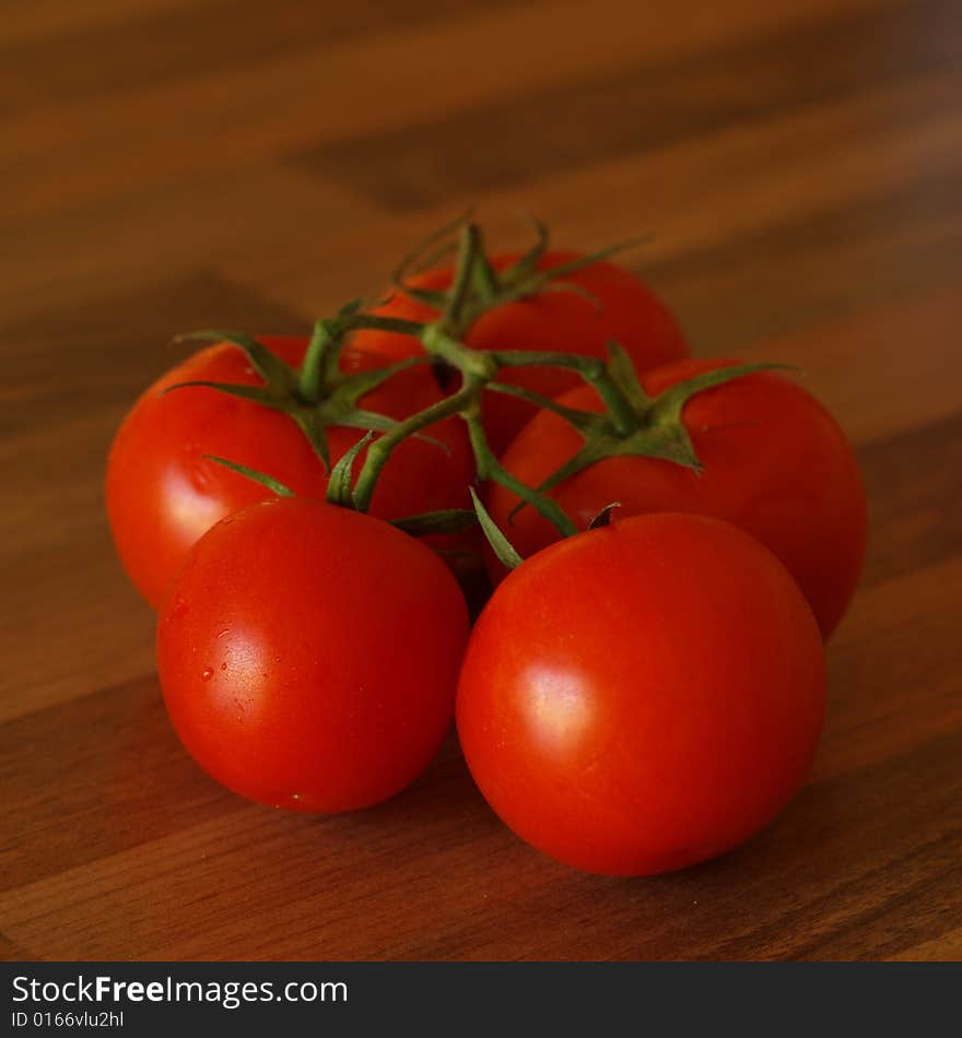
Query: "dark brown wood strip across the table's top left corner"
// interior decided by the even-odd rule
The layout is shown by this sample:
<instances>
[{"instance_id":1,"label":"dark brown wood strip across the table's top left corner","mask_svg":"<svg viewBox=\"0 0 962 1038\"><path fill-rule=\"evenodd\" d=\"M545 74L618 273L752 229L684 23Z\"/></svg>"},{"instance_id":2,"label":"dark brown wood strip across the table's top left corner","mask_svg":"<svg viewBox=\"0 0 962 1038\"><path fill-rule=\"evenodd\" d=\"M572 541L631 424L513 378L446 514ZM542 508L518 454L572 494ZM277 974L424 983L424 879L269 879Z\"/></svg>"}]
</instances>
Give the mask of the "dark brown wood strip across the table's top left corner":
<instances>
[{"instance_id":1,"label":"dark brown wood strip across the table's top left corner","mask_svg":"<svg viewBox=\"0 0 962 1038\"><path fill-rule=\"evenodd\" d=\"M277 61L368 35L442 22L512 0L215 0L82 32L0 46L0 114L95 101L191 76ZM91 55L96 55L96 60ZM322 75L318 59L318 75Z\"/></svg>"}]
</instances>

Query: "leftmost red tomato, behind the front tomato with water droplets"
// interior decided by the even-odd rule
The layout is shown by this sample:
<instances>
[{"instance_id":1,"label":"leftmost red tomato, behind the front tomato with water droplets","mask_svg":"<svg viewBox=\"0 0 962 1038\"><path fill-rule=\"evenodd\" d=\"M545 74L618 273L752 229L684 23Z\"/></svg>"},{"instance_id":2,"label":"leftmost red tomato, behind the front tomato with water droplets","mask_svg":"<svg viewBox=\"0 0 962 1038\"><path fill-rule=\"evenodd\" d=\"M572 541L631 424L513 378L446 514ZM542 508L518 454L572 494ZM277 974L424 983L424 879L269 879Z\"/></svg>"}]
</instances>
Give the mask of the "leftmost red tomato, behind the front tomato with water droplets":
<instances>
[{"instance_id":1,"label":"leftmost red tomato, behind the front tomato with water droplets","mask_svg":"<svg viewBox=\"0 0 962 1038\"><path fill-rule=\"evenodd\" d=\"M265 345L291 364L303 358L307 340L266 337ZM369 370L390 363L372 351L345 351L345 370ZM107 514L114 541L131 580L156 608L187 550L219 519L273 496L265 487L204 455L226 458L266 472L294 493L324 497L327 476L304 434L288 415L208 388L164 390L206 380L260 385L246 356L226 343L210 346L177 365L137 401L125 418L107 463ZM390 379L362 401L372 411L402 417L441 399L426 367ZM395 452L378 482L372 515L399 518L469 505L474 472L470 445L457 418L433 426L430 435L447 445L412 439ZM328 430L337 461L363 435ZM355 463L355 472L363 455Z\"/></svg>"}]
</instances>

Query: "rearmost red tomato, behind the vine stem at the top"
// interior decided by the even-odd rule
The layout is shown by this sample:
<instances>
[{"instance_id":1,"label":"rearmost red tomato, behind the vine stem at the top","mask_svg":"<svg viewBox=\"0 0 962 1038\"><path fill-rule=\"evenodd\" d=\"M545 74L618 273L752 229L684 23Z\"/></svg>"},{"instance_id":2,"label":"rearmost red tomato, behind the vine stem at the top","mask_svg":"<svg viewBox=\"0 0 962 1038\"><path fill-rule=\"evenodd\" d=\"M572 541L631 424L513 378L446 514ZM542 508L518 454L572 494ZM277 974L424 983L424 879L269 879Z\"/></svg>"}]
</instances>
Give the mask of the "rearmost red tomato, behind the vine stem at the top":
<instances>
[{"instance_id":1,"label":"rearmost red tomato, behind the vine stem at the top","mask_svg":"<svg viewBox=\"0 0 962 1038\"><path fill-rule=\"evenodd\" d=\"M577 256L577 252L548 252L538 268L559 267ZM493 266L496 270L504 270L517 259L519 253L498 256ZM598 305L573 292L544 292L530 296L481 317L468 332L467 345L474 350L537 350L605 357L608 340L615 339L638 370L688 354L681 329L671 311L650 288L623 268L598 262L562 280L580 285L595 296ZM446 288L450 282L450 268L410 279L413 287L433 290ZM372 312L415 321L437 317L436 311L400 292ZM355 342L398 358L421 351L418 340L392 332L359 332ZM505 370L498 380L545 397L556 397L580 382L577 375L560 368ZM494 392L485 394L484 427L495 452L508 445L533 413L533 406L524 400Z\"/></svg>"}]
</instances>

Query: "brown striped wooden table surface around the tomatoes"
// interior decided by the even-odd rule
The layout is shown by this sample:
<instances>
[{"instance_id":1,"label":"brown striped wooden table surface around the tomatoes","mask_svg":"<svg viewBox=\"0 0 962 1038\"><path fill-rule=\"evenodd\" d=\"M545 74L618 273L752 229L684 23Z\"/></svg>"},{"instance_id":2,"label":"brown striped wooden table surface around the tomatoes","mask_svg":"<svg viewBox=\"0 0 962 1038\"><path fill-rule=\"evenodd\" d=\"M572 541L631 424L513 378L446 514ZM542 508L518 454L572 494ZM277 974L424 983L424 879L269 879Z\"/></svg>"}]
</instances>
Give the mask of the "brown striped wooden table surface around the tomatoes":
<instances>
[{"instance_id":1,"label":"brown striped wooden table surface around the tomatoes","mask_svg":"<svg viewBox=\"0 0 962 1038\"><path fill-rule=\"evenodd\" d=\"M962 957L962 7L5 0L8 958ZM300 331L474 204L627 262L700 354L801 365L858 448L859 594L810 780L723 860L579 874L454 740L350 816L247 804L167 723L104 459L178 331ZM818 507L817 503L812 503Z\"/></svg>"}]
</instances>

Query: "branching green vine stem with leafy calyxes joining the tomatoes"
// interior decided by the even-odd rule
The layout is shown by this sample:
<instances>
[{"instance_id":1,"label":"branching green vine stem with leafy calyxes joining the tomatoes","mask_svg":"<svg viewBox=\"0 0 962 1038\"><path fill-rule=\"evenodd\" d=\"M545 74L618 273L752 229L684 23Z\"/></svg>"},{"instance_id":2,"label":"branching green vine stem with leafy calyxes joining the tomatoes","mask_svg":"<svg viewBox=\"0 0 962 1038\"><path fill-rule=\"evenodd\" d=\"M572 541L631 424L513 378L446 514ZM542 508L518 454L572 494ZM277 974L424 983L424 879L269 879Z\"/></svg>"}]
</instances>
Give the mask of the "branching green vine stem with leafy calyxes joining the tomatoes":
<instances>
[{"instance_id":1,"label":"branching green vine stem with leafy calyxes joining the tomatoes","mask_svg":"<svg viewBox=\"0 0 962 1038\"><path fill-rule=\"evenodd\" d=\"M196 332L184 337L227 340L247 354L262 377L263 387L204 385L286 412L303 429L330 472L327 495L336 504L367 511L378 479L398 445L411 436L427 438L424 436L425 429L457 415L467 426L479 480L501 484L518 497L518 508L535 508L553 523L562 536L571 536L578 532L577 527L549 496L554 486L589 464L631 453L662 458L699 471L701 463L681 421L684 403L694 393L732 378L781 367L752 364L715 369L680 382L653 399L644 391L631 359L613 342L609 343L607 359L566 353L471 350L465 344L464 338L471 325L486 310L538 292L573 287L566 286L566 275L637 241L614 246L541 271L538 268L548 247L548 233L543 225L536 224L535 246L507 270L497 272L485 256L480 228L471 221L462 221L458 227L457 259L448 291L423 290L408 284L404 278L427 249L433 249L434 256L439 255L439 243L449 238L453 227L444 228L444 234L433 236L420 251L409 255L396 274L396 282L402 291L439 311L435 320L419 322L371 314L365 311L363 300L352 300L333 317L316 322L300 369L284 364L248 335ZM345 374L340 368L341 351L351 333L365 329L417 338L423 346L424 356L374 371ZM361 408L361 399L372 389L411 364L431 361L443 363L459 376L459 384L449 396L402 421ZM579 411L497 380L502 370L523 367L556 367L577 374L598 394L602 410ZM528 486L512 475L491 450L481 417L481 401L485 392L513 394L553 411L582 435L582 449L540 486ZM330 425L348 425L366 433L333 469L325 434ZM354 463L362 451L364 461L354 480ZM257 473L244 467L226 461L223 463L243 471L251 479L258 477ZM269 476L262 477L260 482L272 485ZM515 565L516 553L511 555L509 545L505 547L503 535L494 539L497 540L497 545L494 545L489 529L491 519L479 509L477 495L473 496L476 515L498 556L509 556ZM407 521L407 529L412 532L439 529L445 523L464 524L468 515L462 509L455 509L450 514L409 517L409 520L399 520L399 524Z\"/></svg>"}]
</instances>

